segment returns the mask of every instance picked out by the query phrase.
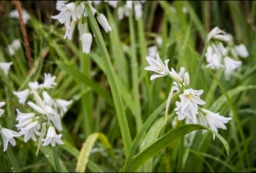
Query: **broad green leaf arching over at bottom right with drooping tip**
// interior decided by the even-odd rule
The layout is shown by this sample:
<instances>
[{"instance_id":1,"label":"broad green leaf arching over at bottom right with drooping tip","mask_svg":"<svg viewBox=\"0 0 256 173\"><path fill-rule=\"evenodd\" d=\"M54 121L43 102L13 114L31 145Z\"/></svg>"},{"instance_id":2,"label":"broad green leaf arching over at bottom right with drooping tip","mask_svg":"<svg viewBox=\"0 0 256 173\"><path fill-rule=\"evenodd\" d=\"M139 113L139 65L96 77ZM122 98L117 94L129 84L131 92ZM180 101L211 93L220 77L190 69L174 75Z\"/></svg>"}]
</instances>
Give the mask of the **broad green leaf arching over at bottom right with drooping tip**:
<instances>
[{"instance_id":1,"label":"broad green leaf arching over at bottom right with drooping tip","mask_svg":"<svg viewBox=\"0 0 256 173\"><path fill-rule=\"evenodd\" d=\"M220 141L226 148L227 154L229 155L229 145L227 141L223 137L221 137L217 132L213 131L211 128L201 125L182 125L170 130L163 137L160 137L157 141L155 141L155 143L153 143L151 146L149 146L148 148L144 149L144 151L136 155L133 158L132 164L130 165L130 171L136 171L148 159L153 158L158 152L170 146L170 144L176 141L176 139L184 137L188 133L198 129L208 129L216 137L219 137Z\"/></svg>"}]
</instances>

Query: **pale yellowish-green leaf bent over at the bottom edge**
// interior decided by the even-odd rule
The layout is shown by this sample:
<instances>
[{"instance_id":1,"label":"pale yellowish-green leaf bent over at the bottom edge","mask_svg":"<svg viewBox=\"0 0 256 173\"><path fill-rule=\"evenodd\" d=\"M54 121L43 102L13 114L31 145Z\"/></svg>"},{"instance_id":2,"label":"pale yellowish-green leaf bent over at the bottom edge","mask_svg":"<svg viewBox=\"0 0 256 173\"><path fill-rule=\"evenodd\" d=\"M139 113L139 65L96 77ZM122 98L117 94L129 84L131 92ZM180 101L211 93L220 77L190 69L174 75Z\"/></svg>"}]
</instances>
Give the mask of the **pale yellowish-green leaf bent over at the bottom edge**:
<instances>
[{"instance_id":1,"label":"pale yellowish-green leaf bent over at the bottom edge","mask_svg":"<svg viewBox=\"0 0 256 173\"><path fill-rule=\"evenodd\" d=\"M91 148L93 147L95 141L99 138L101 143L105 148L112 148L107 137L105 137L101 133L93 133L89 137L87 137L85 143L83 144L82 148L80 149L80 154L77 162L76 172L84 172L89 162Z\"/></svg>"}]
</instances>

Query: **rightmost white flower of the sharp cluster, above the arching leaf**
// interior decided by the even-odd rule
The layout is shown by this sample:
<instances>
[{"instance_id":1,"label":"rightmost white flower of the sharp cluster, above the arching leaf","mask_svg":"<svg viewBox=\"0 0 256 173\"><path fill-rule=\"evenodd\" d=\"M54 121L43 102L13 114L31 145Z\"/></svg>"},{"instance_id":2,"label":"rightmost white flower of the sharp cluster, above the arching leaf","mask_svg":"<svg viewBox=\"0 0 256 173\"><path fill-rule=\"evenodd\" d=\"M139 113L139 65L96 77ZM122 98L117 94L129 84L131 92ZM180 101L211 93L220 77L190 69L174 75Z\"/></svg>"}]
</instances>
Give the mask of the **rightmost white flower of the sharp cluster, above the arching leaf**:
<instances>
[{"instance_id":1,"label":"rightmost white flower of the sharp cluster, above the arching leaf","mask_svg":"<svg viewBox=\"0 0 256 173\"><path fill-rule=\"evenodd\" d=\"M203 111L203 113L199 112L199 124L208 126L216 132L218 132L218 128L227 129L227 127L224 124L228 123L229 120L232 119L232 117L219 116L219 113L215 114L205 108L202 108L201 110ZM203 134L206 131L207 130L203 130ZM214 138L215 135L213 135L213 139Z\"/></svg>"}]
</instances>

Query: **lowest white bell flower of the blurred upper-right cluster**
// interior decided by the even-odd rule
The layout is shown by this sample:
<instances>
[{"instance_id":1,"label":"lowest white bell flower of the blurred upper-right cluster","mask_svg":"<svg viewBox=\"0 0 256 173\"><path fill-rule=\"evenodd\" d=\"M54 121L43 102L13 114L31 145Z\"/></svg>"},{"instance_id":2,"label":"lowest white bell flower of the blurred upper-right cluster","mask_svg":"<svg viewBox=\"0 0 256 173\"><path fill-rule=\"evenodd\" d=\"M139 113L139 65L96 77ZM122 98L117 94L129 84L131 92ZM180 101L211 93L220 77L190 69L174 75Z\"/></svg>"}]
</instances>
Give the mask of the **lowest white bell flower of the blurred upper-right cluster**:
<instances>
[{"instance_id":1,"label":"lowest white bell flower of the blurred upper-right cluster","mask_svg":"<svg viewBox=\"0 0 256 173\"><path fill-rule=\"evenodd\" d=\"M224 58L224 68L225 68L225 78L229 80L230 75L234 72L235 69L241 66L241 61L236 61L231 59L229 56Z\"/></svg>"}]
</instances>

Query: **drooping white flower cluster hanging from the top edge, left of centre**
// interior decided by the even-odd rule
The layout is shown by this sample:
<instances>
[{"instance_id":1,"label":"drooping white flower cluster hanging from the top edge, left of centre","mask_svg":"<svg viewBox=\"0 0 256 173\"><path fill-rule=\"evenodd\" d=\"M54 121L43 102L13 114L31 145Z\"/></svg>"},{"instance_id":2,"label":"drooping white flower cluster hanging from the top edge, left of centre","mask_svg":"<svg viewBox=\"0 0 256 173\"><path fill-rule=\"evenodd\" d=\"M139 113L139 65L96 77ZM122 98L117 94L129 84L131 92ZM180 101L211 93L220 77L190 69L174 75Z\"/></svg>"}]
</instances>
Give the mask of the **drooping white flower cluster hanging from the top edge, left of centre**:
<instances>
[{"instance_id":1,"label":"drooping white flower cluster hanging from the top edge, left of centre","mask_svg":"<svg viewBox=\"0 0 256 173\"><path fill-rule=\"evenodd\" d=\"M82 52L89 54L91 50L92 35L89 32L88 24L85 22L88 16L85 9L85 4L89 4L93 15L97 13L97 20L103 27L106 33L112 31L112 27L105 15L100 14L96 8L92 6L91 1L87 2L69 2L58 0L56 3L56 9L60 11L59 15L54 15L51 18L57 19L60 24L64 24L66 27L66 33L64 38L71 40L76 22L79 22L80 41L82 43ZM94 2L95 3L95 2ZM110 5L114 3L109 2Z\"/></svg>"}]
</instances>

